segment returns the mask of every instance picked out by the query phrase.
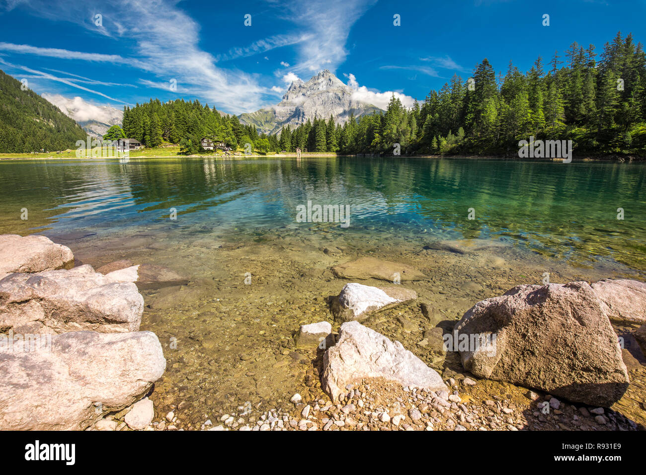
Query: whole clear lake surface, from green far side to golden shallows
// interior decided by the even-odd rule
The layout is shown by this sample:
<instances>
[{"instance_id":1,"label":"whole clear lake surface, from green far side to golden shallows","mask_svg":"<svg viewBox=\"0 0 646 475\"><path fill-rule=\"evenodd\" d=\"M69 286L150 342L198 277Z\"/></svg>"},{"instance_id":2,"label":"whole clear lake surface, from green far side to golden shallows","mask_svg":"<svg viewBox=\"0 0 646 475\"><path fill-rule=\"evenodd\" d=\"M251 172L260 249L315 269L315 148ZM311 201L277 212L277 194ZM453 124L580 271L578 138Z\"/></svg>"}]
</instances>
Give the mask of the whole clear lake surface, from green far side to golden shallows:
<instances>
[{"instance_id":1,"label":"whole clear lake surface, from green far side to golden shallows","mask_svg":"<svg viewBox=\"0 0 646 475\"><path fill-rule=\"evenodd\" d=\"M552 282L643 280L645 178L639 164L495 159L12 160L0 162L0 233L47 235L95 268L127 258L185 275L185 286L142 292L141 328L168 362L156 407L180 405L180 426L196 427L245 401L262 409L320 392L304 387L312 370L292 337L332 320L326 297L345 281L329 269L360 256L422 271L406 286L449 320L546 272ZM349 205L349 226L297 222L308 201ZM423 249L463 238L497 247ZM448 364L416 346L426 324L416 305L366 324Z\"/></svg>"}]
</instances>

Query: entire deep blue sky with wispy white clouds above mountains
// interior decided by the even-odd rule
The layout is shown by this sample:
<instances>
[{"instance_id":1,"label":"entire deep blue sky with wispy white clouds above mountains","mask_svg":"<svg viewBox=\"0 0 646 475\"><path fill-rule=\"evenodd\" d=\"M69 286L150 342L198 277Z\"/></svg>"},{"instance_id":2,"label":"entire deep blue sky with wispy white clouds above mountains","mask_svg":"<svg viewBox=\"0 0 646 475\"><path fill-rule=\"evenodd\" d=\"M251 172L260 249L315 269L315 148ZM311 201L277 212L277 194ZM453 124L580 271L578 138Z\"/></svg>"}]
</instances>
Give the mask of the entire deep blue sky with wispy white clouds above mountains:
<instances>
[{"instance_id":1,"label":"entire deep blue sky with wispy white clouds above mountains","mask_svg":"<svg viewBox=\"0 0 646 475\"><path fill-rule=\"evenodd\" d=\"M391 92L410 103L453 74L470 77L485 57L504 74L510 60L525 71L574 41L600 54L618 31L646 42L645 4L0 0L0 69L40 94L118 109L181 97L251 112L280 101L291 79L306 81L321 69L375 105ZM395 14L401 26L393 25Z\"/></svg>"}]
</instances>

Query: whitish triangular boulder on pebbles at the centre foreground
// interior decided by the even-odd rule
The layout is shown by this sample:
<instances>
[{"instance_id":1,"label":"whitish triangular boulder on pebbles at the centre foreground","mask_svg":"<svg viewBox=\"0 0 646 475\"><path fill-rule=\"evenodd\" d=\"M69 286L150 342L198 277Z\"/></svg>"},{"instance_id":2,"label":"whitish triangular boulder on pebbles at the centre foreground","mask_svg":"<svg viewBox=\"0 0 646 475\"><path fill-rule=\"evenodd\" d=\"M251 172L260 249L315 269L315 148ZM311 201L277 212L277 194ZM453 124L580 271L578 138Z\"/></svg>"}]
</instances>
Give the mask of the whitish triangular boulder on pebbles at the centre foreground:
<instances>
[{"instance_id":1,"label":"whitish triangular boulder on pebbles at the centre foreground","mask_svg":"<svg viewBox=\"0 0 646 475\"><path fill-rule=\"evenodd\" d=\"M402 386L415 386L431 391L444 391L437 372L399 341L394 343L359 322L345 322L339 329L339 342L323 357L322 385L336 400L348 383L366 377L382 377Z\"/></svg>"}]
</instances>

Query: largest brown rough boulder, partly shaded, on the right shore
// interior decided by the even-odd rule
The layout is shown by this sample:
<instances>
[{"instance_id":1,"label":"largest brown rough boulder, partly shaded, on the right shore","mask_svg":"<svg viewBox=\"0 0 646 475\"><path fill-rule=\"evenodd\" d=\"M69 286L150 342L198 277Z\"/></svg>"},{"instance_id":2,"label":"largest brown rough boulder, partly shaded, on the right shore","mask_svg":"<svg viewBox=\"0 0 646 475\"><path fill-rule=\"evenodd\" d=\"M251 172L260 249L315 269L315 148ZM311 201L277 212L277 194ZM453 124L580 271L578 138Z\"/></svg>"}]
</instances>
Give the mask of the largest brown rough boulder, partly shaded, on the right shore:
<instances>
[{"instance_id":1,"label":"largest brown rough boulder, partly shaded, on the right shore","mask_svg":"<svg viewBox=\"0 0 646 475\"><path fill-rule=\"evenodd\" d=\"M477 302L454 334L474 342L495 335L494 351L459 348L464 368L481 378L606 407L628 388L617 334L587 282L516 286Z\"/></svg>"}]
</instances>

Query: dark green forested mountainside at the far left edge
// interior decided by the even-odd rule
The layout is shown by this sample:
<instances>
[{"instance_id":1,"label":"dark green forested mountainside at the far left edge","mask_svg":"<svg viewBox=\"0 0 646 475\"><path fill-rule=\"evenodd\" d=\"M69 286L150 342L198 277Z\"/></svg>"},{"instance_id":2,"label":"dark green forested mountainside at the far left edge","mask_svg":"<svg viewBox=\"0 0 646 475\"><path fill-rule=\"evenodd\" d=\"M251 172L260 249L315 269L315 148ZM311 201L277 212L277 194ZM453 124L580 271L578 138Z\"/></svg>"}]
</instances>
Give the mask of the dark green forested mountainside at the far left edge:
<instances>
[{"instance_id":1,"label":"dark green forested mountainside at the far left edge","mask_svg":"<svg viewBox=\"0 0 646 475\"><path fill-rule=\"evenodd\" d=\"M87 134L74 120L0 70L0 153L75 148Z\"/></svg>"}]
</instances>

